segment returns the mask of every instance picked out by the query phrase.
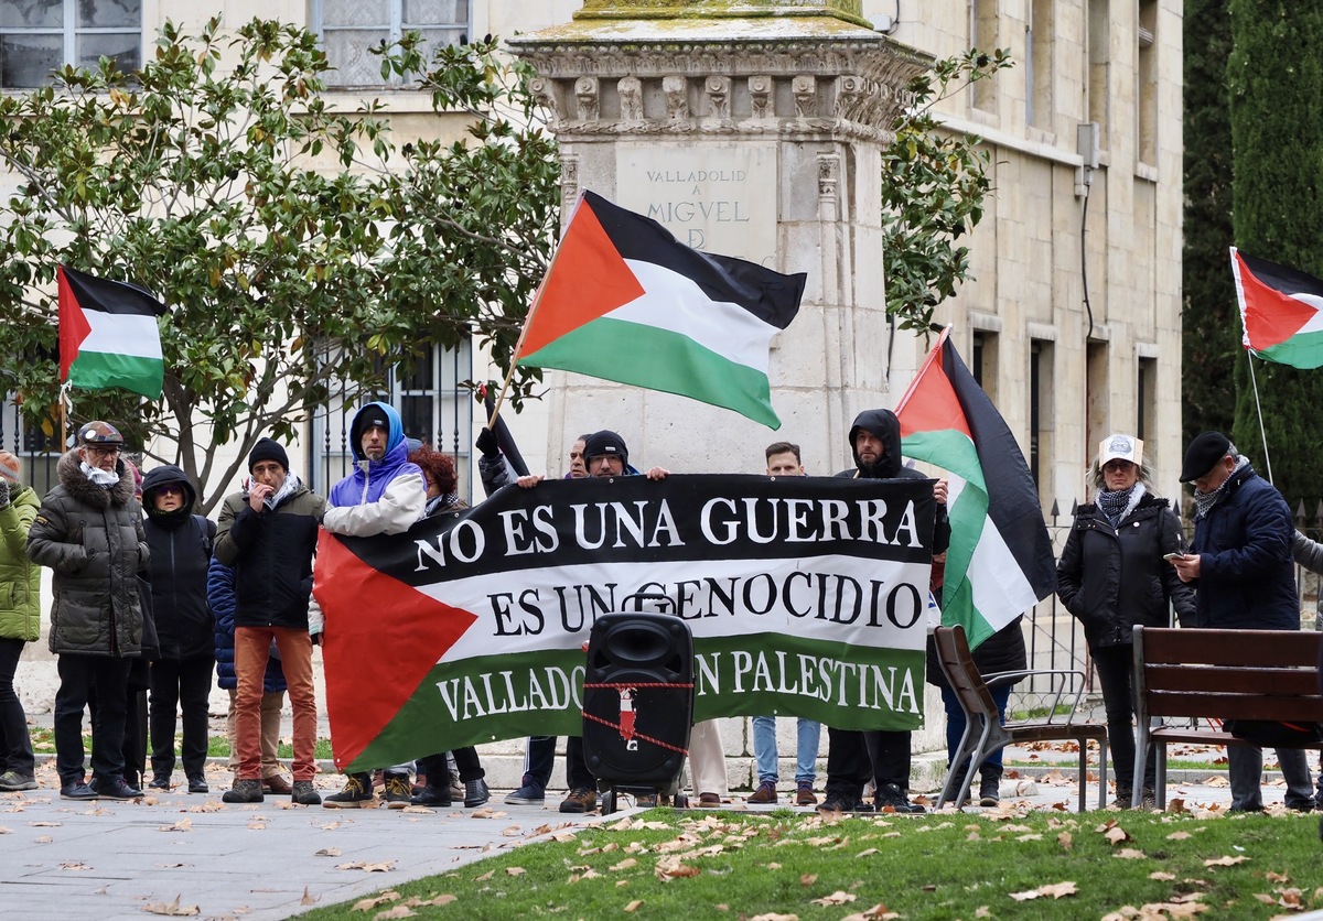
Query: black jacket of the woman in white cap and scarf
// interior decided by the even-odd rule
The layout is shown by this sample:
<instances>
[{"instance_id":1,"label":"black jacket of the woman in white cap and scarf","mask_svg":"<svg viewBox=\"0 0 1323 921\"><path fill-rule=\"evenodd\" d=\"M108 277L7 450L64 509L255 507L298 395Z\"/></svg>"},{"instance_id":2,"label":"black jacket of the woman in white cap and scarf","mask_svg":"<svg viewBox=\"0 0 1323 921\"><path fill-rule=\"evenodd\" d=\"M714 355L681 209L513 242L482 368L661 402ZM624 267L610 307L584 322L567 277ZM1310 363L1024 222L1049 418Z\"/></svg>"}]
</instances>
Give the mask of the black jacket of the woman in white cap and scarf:
<instances>
[{"instance_id":1,"label":"black jacket of the woman in white cap and scarf","mask_svg":"<svg viewBox=\"0 0 1323 921\"><path fill-rule=\"evenodd\" d=\"M1132 642L1136 624L1167 626L1167 603L1191 626L1195 593L1163 554L1180 547L1180 519L1144 493L1113 527L1097 503L1081 505L1057 563L1057 597L1084 626L1091 649Z\"/></svg>"}]
</instances>

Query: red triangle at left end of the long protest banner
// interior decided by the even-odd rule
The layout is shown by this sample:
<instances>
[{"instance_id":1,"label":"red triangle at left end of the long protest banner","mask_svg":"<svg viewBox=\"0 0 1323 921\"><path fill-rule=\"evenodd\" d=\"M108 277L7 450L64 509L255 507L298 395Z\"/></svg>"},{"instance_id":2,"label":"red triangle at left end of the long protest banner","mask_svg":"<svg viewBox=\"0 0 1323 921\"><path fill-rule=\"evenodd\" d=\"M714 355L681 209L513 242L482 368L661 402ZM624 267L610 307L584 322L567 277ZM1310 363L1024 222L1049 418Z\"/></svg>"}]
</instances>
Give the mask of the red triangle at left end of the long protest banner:
<instances>
[{"instance_id":1,"label":"red triangle at left end of the long protest banner","mask_svg":"<svg viewBox=\"0 0 1323 921\"><path fill-rule=\"evenodd\" d=\"M446 651L478 620L359 559L329 531L318 538L316 596L336 766L385 729Z\"/></svg>"}]
</instances>

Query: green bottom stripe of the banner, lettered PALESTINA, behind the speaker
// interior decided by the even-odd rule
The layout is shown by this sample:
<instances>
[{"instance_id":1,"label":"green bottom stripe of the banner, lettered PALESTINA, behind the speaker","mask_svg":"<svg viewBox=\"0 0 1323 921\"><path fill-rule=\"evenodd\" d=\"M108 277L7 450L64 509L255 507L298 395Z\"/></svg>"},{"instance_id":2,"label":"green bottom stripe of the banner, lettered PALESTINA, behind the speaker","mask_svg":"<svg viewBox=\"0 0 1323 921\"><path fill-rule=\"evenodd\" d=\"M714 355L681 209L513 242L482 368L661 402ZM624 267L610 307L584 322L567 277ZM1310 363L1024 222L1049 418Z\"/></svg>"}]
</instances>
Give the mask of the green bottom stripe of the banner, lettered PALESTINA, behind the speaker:
<instances>
[{"instance_id":1,"label":"green bottom stripe of the banner, lettered PALESTINA, behind the speaker","mask_svg":"<svg viewBox=\"0 0 1323 921\"><path fill-rule=\"evenodd\" d=\"M766 633L700 640L696 646L696 721L775 712L841 729L923 724L923 650ZM572 649L437 665L347 770L500 739L579 735L586 661L582 650Z\"/></svg>"}]
</instances>

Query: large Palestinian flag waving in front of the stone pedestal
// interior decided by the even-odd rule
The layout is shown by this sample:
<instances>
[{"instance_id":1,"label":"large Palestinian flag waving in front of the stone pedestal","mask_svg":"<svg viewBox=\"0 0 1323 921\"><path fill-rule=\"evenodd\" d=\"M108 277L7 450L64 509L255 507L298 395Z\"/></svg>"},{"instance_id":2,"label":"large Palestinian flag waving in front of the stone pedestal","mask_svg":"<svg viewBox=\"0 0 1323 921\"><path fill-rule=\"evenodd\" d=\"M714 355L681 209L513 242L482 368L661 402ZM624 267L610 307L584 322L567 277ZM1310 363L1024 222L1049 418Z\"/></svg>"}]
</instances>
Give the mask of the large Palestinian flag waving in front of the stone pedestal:
<instances>
[{"instance_id":1,"label":"large Palestinian flag waving in front of the stone pedestal","mask_svg":"<svg viewBox=\"0 0 1323 921\"><path fill-rule=\"evenodd\" d=\"M528 312L519 365L689 396L781 428L767 351L804 274L699 252L585 192Z\"/></svg>"}]
</instances>

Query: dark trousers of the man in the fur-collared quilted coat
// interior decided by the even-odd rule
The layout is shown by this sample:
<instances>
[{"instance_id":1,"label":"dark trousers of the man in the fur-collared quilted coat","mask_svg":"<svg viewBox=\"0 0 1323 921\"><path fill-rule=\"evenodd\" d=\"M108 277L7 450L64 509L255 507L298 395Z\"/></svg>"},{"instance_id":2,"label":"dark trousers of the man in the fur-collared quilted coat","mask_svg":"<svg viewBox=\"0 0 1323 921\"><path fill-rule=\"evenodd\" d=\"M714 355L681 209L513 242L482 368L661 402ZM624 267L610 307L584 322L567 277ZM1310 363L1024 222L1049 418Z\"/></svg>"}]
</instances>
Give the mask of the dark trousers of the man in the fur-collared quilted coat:
<instances>
[{"instance_id":1,"label":"dark trousers of the man in the fur-collared quilted coat","mask_svg":"<svg viewBox=\"0 0 1323 921\"><path fill-rule=\"evenodd\" d=\"M82 715L94 692L97 715L91 721L93 777L110 780L124 776L124 711L128 707L130 663L131 659L110 655L60 654L54 735L56 770L61 785L75 784L85 777Z\"/></svg>"}]
</instances>

